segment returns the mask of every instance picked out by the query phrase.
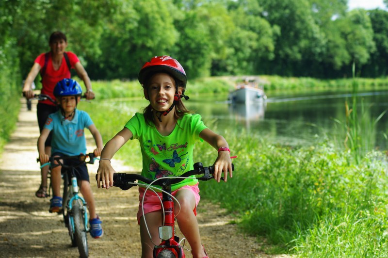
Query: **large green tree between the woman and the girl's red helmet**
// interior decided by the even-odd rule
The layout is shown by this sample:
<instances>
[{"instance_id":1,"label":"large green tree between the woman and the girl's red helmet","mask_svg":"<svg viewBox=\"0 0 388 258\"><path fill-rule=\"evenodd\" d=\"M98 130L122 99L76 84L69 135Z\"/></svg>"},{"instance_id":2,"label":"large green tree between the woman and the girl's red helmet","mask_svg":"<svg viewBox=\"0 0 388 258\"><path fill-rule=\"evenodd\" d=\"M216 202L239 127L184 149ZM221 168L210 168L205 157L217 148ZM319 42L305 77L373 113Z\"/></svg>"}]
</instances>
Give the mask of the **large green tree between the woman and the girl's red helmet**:
<instances>
[{"instance_id":1,"label":"large green tree between the woman and the girl's red helmet","mask_svg":"<svg viewBox=\"0 0 388 258\"><path fill-rule=\"evenodd\" d=\"M170 54L178 39L176 8L164 0L121 0L103 26L101 58L93 62L93 78L137 78L151 57Z\"/></svg>"}]
</instances>

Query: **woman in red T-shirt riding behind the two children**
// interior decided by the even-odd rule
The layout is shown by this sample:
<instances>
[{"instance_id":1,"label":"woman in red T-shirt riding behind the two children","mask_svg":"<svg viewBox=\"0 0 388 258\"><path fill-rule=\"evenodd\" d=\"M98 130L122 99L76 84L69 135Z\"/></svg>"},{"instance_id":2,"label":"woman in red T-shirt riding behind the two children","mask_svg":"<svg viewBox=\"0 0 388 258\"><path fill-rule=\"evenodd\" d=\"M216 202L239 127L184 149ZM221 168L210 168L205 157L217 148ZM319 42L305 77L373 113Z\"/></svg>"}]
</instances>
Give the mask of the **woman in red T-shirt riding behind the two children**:
<instances>
[{"instance_id":1,"label":"woman in red T-shirt riding behind the two children","mask_svg":"<svg viewBox=\"0 0 388 258\"><path fill-rule=\"evenodd\" d=\"M24 82L23 94L27 99L33 97L32 92L32 83L35 80L39 72L41 72L42 77L42 90L41 94L48 95L52 99L55 99L53 95L53 90L58 81L61 81L65 78L70 78L70 68L74 68L78 76L82 79L86 87L86 98L94 98L94 93L92 91L92 84L90 82L89 76L85 69L83 68L80 60L77 55L72 52L65 52L67 47L66 35L62 32L53 32L50 35L49 47L51 49L48 53L40 54L34 61L34 64L31 68L30 73L27 76L27 79ZM52 103L50 100L39 101L37 107L37 117L39 129L42 131L43 126L46 123L46 120L50 113L55 113L57 105ZM46 141L46 153L50 154L51 152L51 135ZM46 166L41 170L41 184L36 191L36 197L45 198L47 194L47 174L49 168Z\"/></svg>"}]
</instances>

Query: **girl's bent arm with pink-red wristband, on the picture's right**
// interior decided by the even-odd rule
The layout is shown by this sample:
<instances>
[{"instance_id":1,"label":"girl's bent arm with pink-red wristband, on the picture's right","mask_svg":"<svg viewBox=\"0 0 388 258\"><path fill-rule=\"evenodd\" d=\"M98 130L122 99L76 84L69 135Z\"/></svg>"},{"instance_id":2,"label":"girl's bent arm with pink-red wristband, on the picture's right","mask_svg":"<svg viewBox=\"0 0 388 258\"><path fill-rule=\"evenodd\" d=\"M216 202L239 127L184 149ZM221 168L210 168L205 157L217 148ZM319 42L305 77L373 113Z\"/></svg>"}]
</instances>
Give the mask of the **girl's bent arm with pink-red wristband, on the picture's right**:
<instances>
[{"instance_id":1,"label":"girl's bent arm with pink-red wristband, on the picture's right","mask_svg":"<svg viewBox=\"0 0 388 258\"><path fill-rule=\"evenodd\" d=\"M229 148L225 138L210 129L203 129L199 133L199 137L213 146L217 151L221 147ZM229 171L229 176L232 177L232 161L230 159L230 153L227 150L219 151L217 159L214 162L214 178L217 182L220 182L222 172L224 172L224 181L226 182L227 171Z\"/></svg>"}]
</instances>

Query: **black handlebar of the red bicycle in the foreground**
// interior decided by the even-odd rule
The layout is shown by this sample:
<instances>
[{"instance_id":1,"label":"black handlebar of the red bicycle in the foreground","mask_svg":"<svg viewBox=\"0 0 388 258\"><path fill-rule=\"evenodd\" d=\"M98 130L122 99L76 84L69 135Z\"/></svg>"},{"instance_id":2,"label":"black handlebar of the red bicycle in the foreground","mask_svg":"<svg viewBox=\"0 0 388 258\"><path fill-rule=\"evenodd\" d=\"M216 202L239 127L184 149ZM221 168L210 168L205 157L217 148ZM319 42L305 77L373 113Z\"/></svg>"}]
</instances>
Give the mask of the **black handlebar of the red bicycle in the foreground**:
<instances>
[{"instance_id":1,"label":"black handlebar of the red bicycle in the foreground","mask_svg":"<svg viewBox=\"0 0 388 258\"><path fill-rule=\"evenodd\" d=\"M232 163L232 171L234 170L234 164ZM179 177L190 177L194 175L202 175L202 177L196 177L196 179L201 181L208 181L210 179L213 179L213 172L214 172L214 166L208 166L204 167L201 162L194 163L194 169L187 171L180 175ZM170 178L170 177L164 177L162 179L159 179L158 181L155 181L153 179L149 179L147 177L143 177L139 174L126 174L126 173L113 173L113 186L119 187L122 190L128 190L134 185L137 185L135 183L136 180L143 181L147 184L154 184L158 186L162 185L171 185L179 183L180 181L184 180L186 178ZM96 175L97 180L97 175ZM101 180L101 179L100 179ZM221 180L224 180L223 177L221 177Z\"/></svg>"}]
</instances>

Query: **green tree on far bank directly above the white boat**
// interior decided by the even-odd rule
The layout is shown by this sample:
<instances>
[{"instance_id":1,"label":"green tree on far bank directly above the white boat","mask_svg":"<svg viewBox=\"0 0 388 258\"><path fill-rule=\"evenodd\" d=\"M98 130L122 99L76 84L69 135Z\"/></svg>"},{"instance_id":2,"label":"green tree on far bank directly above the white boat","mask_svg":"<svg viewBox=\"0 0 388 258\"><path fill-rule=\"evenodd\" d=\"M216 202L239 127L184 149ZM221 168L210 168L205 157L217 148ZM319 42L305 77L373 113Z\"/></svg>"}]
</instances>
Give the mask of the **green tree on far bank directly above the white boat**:
<instances>
[{"instance_id":1,"label":"green tree on far bank directly above the white boat","mask_svg":"<svg viewBox=\"0 0 388 258\"><path fill-rule=\"evenodd\" d=\"M261 61L274 58L277 27L261 16L257 0L231 1L228 9L234 24L225 39L226 55L213 60L212 74L257 74Z\"/></svg>"}]
</instances>

